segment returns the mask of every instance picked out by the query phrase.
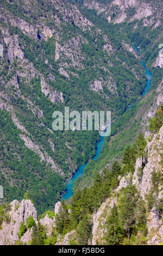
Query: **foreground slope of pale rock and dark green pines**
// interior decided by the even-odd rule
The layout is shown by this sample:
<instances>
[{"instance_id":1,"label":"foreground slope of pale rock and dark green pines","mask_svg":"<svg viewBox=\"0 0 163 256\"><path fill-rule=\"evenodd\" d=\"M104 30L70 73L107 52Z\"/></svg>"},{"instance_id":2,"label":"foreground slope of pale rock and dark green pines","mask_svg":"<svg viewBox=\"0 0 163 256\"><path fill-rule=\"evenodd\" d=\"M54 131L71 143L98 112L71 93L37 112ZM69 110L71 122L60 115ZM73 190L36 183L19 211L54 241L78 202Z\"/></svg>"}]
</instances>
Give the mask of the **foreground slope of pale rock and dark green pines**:
<instances>
[{"instance_id":1,"label":"foreground slope of pale rock and dark green pines","mask_svg":"<svg viewBox=\"0 0 163 256\"><path fill-rule=\"evenodd\" d=\"M132 148L128 147L124 151L121 168L115 163L110 174L104 172L97 175L90 190L84 189L82 193L77 191L74 194L69 209L64 202L58 202L55 204L55 212L46 211L38 221L34 205L27 198L22 202L14 200L9 205L1 205L1 245L162 243L162 110L159 108L158 119L153 118L151 121L149 127L152 132L147 142L141 137L137 145L134 145L137 156L134 161L131 158ZM124 215L126 206L127 212ZM130 218L132 222L128 222ZM40 243L37 235L42 237Z\"/></svg>"}]
</instances>

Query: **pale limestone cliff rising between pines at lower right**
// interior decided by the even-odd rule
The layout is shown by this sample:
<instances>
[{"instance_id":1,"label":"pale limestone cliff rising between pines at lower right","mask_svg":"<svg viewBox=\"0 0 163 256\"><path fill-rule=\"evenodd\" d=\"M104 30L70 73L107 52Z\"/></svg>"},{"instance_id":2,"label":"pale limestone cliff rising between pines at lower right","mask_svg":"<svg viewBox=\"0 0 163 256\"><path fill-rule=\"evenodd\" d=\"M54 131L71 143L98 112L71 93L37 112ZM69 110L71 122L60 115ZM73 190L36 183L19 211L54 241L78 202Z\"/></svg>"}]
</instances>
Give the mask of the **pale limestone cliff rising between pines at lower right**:
<instances>
[{"instance_id":1,"label":"pale limestone cliff rising between pines at lower right","mask_svg":"<svg viewBox=\"0 0 163 256\"><path fill-rule=\"evenodd\" d=\"M148 138L149 139L149 138ZM163 142L163 126L161 127L158 134L155 134L147 144L146 150L147 163L142 169L142 159L138 158L135 164L135 172L133 175L128 174L127 176L119 176L120 184L116 190L111 194L110 198L106 199L101 205L101 208L93 215L93 229L92 229L92 245L105 244L105 222L110 209L114 204L118 204L117 197L120 196L121 190L128 186L130 178L132 179L133 185L136 185L137 190L140 192L140 196L146 202L147 207L147 196L150 193L152 185L152 173L155 172L160 175L159 186L160 186L160 197L162 196L162 186L161 180L163 175L163 169L161 165L161 157L163 153L162 148ZM142 170L140 175L140 170ZM154 191L156 193L156 191ZM158 245L163 241L163 223L162 217L159 216L158 211L152 208L148 211L147 220L147 244L148 245Z\"/></svg>"}]
</instances>

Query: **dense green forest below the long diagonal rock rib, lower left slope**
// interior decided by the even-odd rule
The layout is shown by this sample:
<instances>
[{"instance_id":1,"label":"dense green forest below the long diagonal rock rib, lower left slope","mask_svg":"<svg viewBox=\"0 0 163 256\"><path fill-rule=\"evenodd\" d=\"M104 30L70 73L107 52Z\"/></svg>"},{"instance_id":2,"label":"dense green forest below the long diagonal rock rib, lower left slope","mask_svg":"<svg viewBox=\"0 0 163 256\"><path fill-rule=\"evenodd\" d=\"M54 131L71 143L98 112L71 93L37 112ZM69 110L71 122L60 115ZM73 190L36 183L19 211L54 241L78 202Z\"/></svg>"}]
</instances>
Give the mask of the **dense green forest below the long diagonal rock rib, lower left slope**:
<instances>
[{"instance_id":1,"label":"dense green forest below the long diagonal rock rib, lower left slope","mask_svg":"<svg viewBox=\"0 0 163 256\"><path fill-rule=\"evenodd\" d=\"M24 147L20 139L20 131L13 125L8 112L1 111L0 129L5 133L5 139L2 139L1 160L3 161L2 169L10 170L10 178L13 185L4 178L1 173L1 184L4 187L4 197L8 202L14 200L29 199L34 202L38 214L46 210L49 205L53 207L60 197L60 193L65 189L64 180L57 173L52 173L51 168L47 167L45 162L40 162L39 156L33 151ZM5 152L4 143L8 142L7 153ZM18 160L17 155L22 159ZM20 182L17 182L20 180ZM28 193L26 192L28 191Z\"/></svg>"}]
</instances>

